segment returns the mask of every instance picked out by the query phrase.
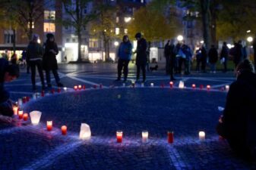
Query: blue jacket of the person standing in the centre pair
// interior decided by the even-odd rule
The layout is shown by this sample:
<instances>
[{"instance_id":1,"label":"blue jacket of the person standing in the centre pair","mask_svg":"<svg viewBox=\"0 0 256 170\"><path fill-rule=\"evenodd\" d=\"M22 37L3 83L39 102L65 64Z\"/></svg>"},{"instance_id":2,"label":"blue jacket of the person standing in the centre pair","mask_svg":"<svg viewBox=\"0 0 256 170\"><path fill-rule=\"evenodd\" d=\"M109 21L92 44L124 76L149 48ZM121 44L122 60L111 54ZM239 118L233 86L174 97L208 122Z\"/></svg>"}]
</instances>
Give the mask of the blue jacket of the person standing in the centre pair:
<instances>
[{"instance_id":1,"label":"blue jacket of the person standing in the centre pair","mask_svg":"<svg viewBox=\"0 0 256 170\"><path fill-rule=\"evenodd\" d=\"M122 42L119 46L118 57L122 60L131 60L131 42Z\"/></svg>"}]
</instances>

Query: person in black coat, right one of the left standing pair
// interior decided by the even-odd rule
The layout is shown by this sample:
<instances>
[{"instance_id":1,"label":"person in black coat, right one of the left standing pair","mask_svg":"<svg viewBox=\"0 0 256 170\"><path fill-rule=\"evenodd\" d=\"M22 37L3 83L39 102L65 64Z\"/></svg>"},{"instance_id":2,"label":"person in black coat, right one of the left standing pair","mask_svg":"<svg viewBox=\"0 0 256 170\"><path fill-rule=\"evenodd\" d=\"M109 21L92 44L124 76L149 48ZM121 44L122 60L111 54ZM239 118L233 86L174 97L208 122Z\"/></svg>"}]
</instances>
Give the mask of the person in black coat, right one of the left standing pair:
<instances>
[{"instance_id":1,"label":"person in black coat, right one of the left standing pair","mask_svg":"<svg viewBox=\"0 0 256 170\"><path fill-rule=\"evenodd\" d=\"M50 72L52 71L55 82L58 87L63 87L58 76L58 64L56 55L58 54L58 46L52 33L46 35L46 48L43 54L43 69L46 70L46 81L48 88L52 88Z\"/></svg>"}]
</instances>

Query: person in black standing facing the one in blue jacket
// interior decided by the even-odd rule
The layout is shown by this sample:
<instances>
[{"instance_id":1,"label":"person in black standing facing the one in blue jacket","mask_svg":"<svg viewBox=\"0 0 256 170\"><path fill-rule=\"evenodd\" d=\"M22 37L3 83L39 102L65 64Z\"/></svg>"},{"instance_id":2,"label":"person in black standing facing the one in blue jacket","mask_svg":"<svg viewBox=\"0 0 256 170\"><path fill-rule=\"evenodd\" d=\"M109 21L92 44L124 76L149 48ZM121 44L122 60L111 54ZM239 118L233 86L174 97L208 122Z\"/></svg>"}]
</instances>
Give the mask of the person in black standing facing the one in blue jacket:
<instances>
[{"instance_id":1,"label":"person in black standing facing the one in blue jacket","mask_svg":"<svg viewBox=\"0 0 256 170\"><path fill-rule=\"evenodd\" d=\"M143 82L146 82L146 64L147 64L147 41L142 38L141 33L138 32L135 35L137 39L137 49L135 53L136 57L136 65L137 65L137 76L136 80L140 79L140 71L142 70Z\"/></svg>"}]
</instances>

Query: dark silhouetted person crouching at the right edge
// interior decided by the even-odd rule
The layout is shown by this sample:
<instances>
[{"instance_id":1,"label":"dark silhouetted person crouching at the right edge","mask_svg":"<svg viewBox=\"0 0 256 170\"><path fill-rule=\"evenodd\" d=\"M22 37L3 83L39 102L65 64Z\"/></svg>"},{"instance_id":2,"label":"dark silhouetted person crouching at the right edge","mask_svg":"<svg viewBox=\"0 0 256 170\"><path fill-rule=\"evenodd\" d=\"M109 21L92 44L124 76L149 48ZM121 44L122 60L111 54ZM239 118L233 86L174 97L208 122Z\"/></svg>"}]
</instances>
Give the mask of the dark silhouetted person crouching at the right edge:
<instances>
[{"instance_id":1,"label":"dark silhouetted person crouching at the right edge","mask_svg":"<svg viewBox=\"0 0 256 170\"><path fill-rule=\"evenodd\" d=\"M226 138L235 153L248 158L256 146L256 75L250 60L239 63L236 76L216 131Z\"/></svg>"}]
</instances>

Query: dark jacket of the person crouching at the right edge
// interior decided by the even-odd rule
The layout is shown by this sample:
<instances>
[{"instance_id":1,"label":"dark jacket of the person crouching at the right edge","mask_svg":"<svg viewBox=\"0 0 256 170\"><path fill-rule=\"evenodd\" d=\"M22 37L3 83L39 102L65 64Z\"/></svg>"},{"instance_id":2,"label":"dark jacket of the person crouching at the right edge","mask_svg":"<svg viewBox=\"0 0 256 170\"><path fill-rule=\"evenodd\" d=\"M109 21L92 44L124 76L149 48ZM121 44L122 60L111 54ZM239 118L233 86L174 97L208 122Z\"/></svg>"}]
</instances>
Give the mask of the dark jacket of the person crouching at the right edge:
<instances>
[{"instance_id":1,"label":"dark jacket of the person crouching at the right edge","mask_svg":"<svg viewBox=\"0 0 256 170\"><path fill-rule=\"evenodd\" d=\"M256 146L256 75L242 73L230 85L223 113L224 136L229 144Z\"/></svg>"}]
</instances>

